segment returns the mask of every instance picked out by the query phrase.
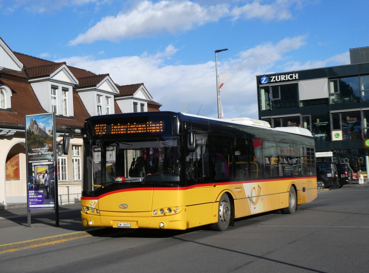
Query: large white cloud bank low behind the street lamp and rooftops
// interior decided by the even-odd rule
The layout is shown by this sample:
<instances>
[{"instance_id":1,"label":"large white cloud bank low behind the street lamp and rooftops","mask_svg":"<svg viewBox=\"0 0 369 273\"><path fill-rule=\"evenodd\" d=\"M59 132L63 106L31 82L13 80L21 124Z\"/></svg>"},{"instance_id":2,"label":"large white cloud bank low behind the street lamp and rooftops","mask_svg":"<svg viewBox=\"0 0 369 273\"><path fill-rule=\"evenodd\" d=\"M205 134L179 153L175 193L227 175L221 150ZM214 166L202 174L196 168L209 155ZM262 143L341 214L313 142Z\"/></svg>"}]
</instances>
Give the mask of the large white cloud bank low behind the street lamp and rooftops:
<instances>
[{"instance_id":1,"label":"large white cloud bank low behind the street lamp and rooftops","mask_svg":"<svg viewBox=\"0 0 369 273\"><path fill-rule=\"evenodd\" d=\"M275 70L274 64L277 61L286 68L280 71L293 70L287 68L293 65L297 67L298 64L283 63L283 60L292 50L305 45L305 40L306 36L284 38L275 44L265 43L240 52L235 59L224 61L218 58L218 74L231 75L220 94L225 117L258 118L256 75ZM188 113L197 114L201 107L200 115L217 117L214 61L193 65L165 65L165 58L168 54L174 54L176 50L169 45L164 52L152 56L145 53L141 56L105 60L94 60L93 56L87 56L56 61L66 61L68 65L85 68L97 74L109 73L113 81L119 85L144 82L153 99L163 104L161 110L184 111L186 104ZM329 61L339 63L346 59L345 53L328 58L322 63ZM319 62L306 65L310 64L317 65Z\"/></svg>"}]
</instances>

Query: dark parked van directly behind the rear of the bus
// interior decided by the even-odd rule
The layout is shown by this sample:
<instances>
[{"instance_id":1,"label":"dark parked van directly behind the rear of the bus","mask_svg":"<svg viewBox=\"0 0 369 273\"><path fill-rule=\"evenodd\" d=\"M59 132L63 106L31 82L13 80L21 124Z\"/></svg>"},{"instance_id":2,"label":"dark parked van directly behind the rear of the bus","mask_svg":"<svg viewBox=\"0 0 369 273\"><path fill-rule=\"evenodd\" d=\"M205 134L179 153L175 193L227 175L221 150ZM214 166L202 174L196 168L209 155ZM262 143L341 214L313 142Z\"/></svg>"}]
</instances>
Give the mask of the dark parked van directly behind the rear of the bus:
<instances>
[{"instance_id":1,"label":"dark parked van directly behind the rear of the bus","mask_svg":"<svg viewBox=\"0 0 369 273\"><path fill-rule=\"evenodd\" d=\"M339 187L336 163L317 162L317 188Z\"/></svg>"}]
</instances>

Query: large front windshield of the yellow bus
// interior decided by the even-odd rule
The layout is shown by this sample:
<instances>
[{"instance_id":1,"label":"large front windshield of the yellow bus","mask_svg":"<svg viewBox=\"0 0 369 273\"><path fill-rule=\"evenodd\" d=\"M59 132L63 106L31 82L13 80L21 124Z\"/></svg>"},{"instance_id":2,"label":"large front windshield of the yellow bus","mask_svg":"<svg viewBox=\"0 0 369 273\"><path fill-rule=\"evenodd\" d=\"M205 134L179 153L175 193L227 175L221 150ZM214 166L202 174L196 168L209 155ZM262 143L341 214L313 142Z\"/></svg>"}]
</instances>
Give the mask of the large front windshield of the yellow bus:
<instances>
[{"instance_id":1,"label":"large front windshield of the yellow bus","mask_svg":"<svg viewBox=\"0 0 369 273\"><path fill-rule=\"evenodd\" d=\"M139 184L152 187L179 187L181 155L179 137L92 141L91 162L93 182L84 185L107 187L108 184ZM89 183L89 182L87 182ZM86 188L87 187L87 188ZM110 186L111 187L111 186Z\"/></svg>"}]
</instances>

